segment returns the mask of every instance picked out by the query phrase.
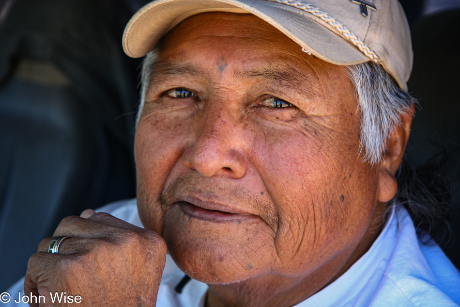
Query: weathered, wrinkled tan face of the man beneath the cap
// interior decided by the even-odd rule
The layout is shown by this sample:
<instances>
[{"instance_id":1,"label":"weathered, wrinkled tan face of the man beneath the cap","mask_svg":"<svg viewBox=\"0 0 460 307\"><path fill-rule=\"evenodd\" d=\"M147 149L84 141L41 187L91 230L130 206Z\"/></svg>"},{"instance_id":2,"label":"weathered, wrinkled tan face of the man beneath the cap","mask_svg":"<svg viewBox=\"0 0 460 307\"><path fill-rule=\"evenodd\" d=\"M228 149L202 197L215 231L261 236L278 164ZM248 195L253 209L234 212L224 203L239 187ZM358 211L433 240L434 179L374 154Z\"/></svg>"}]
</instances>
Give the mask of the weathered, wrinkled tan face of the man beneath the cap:
<instances>
[{"instance_id":1,"label":"weathered, wrinkled tan face of the man beneath the cap","mask_svg":"<svg viewBox=\"0 0 460 307\"><path fill-rule=\"evenodd\" d=\"M192 16L164 38L138 123L142 223L206 283L332 277L380 225L359 137L343 68L256 16Z\"/></svg>"}]
</instances>

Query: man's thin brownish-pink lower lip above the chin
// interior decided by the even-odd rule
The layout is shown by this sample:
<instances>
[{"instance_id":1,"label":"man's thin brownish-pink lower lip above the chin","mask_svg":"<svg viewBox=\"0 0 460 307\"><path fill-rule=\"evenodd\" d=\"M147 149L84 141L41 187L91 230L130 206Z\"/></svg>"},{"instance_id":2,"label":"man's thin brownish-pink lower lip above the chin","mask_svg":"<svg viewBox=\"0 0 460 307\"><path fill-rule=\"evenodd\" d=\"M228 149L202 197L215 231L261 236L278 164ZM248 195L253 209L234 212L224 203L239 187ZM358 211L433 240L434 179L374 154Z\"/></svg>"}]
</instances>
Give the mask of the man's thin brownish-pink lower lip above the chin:
<instances>
[{"instance_id":1,"label":"man's thin brownish-pink lower lip above the chin","mask_svg":"<svg viewBox=\"0 0 460 307\"><path fill-rule=\"evenodd\" d=\"M177 205L184 211L185 214L195 217L201 220L215 221L215 222L238 222L247 219L254 218L254 215L251 214L237 214L229 213L218 210L207 210L197 206L194 206L190 203L181 201Z\"/></svg>"}]
</instances>

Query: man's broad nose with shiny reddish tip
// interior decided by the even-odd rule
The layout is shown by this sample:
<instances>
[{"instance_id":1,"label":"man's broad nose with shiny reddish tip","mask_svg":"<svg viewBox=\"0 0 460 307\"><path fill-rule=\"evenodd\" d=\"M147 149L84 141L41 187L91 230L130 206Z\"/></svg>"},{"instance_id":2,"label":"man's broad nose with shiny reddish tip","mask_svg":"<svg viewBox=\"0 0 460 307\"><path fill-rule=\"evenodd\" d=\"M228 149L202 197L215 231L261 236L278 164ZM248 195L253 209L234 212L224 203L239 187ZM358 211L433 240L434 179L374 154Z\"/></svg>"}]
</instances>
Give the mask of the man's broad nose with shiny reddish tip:
<instances>
[{"instance_id":1,"label":"man's broad nose with shiny reddish tip","mask_svg":"<svg viewBox=\"0 0 460 307\"><path fill-rule=\"evenodd\" d=\"M184 162L201 175L241 178L246 172L243 129L228 116L209 115L185 148Z\"/></svg>"}]
</instances>

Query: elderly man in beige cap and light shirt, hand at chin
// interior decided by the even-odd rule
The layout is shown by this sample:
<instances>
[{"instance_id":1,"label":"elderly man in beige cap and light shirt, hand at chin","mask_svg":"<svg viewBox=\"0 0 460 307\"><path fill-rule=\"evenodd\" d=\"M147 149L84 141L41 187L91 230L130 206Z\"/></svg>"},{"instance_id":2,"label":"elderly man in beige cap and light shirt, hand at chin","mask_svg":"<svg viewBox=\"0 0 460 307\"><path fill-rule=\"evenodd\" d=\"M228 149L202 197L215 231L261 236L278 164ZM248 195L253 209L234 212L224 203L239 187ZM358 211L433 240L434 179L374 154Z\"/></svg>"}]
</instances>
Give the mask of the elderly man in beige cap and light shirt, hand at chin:
<instances>
[{"instance_id":1,"label":"elderly man in beige cap and light shirt, hand at chin","mask_svg":"<svg viewBox=\"0 0 460 307\"><path fill-rule=\"evenodd\" d=\"M123 47L147 55L137 201L64 219L12 301L458 306L394 200L415 103L396 0L153 1Z\"/></svg>"}]
</instances>

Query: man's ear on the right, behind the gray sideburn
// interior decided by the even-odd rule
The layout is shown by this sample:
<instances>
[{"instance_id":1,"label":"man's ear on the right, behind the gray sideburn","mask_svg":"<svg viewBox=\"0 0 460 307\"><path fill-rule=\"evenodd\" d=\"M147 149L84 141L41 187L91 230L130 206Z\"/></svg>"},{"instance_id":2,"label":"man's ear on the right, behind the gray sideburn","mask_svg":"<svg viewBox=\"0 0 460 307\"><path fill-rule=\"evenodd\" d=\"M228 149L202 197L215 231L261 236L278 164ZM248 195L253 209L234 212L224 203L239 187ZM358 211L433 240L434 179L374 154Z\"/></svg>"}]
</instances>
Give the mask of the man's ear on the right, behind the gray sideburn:
<instances>
[{"instance_id":1,"label":"man's ear on the right, behind the gray sideburn","mask_svg":"<svg viewBox=\"0 0 460 307\"><path fill-rule=\"evenodd\" d=\"M380 163L379 172L379 193L377 198L380 202L390 201L398 190L395 173L406 150L413 117L414 105L412 105L409 112L401 115L401 125L390 133L386 142L385 155Z\"/></svg>"}]
</instances>

